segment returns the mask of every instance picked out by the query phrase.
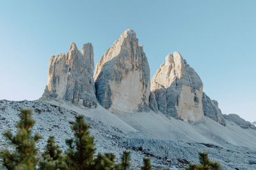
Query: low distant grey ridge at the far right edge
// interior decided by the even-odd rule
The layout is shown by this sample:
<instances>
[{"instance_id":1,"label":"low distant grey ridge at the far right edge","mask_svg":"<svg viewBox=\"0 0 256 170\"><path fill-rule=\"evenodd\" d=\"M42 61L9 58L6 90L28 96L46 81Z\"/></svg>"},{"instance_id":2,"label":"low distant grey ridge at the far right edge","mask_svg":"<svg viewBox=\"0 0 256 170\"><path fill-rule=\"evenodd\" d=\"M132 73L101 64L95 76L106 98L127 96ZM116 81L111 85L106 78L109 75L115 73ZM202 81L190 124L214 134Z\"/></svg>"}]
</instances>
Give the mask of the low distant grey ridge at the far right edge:
<instances>
[{"instance_id":1,"label":"low distant grey ridge at the far right edge","mask_svg":"<svg viewBox=\"0 0 256 170\"><path fill-rule=\"evenodd\" d=\"M251 122L248 122L244 120L243 118L239 117L239 115L236 114L229 114L229 115L224 115L224 117L231 121L234 122L235 124L239 125L243 129L256 129L255 125L251 124Z\"/></svg>"}]
</instances>

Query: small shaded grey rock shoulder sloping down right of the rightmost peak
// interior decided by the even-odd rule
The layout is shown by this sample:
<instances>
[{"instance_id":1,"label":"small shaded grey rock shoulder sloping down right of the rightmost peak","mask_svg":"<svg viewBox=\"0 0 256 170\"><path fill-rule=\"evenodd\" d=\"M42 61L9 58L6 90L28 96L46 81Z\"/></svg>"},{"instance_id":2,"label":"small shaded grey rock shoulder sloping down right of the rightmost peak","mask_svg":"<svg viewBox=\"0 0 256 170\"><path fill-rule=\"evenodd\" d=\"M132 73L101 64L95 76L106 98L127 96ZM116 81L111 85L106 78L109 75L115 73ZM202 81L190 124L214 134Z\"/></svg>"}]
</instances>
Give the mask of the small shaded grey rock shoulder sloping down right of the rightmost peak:
<instances>
[{"instance_id":1,"label":"small shaded grey rock shoulder sloping down right of the rightmost peak","mask_svg":"<svg viewBox=\"0 0 256 170\"><path fill-rule=\"evenodd\" d=\"M218 106L218 102L211 100L210 97L208 97L205 93L203 93L202 102L204 115L225 126L225 118L221 113L221 110Z\"/></svg>"}]
</instances>

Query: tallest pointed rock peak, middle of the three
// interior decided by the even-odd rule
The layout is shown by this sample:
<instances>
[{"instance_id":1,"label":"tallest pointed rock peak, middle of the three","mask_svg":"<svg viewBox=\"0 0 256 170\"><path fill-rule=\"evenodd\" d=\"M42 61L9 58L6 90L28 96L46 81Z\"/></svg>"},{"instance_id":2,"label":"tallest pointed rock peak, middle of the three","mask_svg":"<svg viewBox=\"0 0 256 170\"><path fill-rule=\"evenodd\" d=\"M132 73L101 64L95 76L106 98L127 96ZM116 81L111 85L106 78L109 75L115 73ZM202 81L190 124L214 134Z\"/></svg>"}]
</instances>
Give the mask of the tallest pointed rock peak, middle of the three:
<instances>
[{"instance_id":1,"label":"tallest pointed rock peak, middle of the three","mask_svg":"<svg viewBox=\"0 0 256 170\"><path fill-rule=\"evenodd\" d=\"M136 34L127 29L104 53L94 74L99 103L112 112L148 111L150 69Z\"/></svg>"}]
</instances>

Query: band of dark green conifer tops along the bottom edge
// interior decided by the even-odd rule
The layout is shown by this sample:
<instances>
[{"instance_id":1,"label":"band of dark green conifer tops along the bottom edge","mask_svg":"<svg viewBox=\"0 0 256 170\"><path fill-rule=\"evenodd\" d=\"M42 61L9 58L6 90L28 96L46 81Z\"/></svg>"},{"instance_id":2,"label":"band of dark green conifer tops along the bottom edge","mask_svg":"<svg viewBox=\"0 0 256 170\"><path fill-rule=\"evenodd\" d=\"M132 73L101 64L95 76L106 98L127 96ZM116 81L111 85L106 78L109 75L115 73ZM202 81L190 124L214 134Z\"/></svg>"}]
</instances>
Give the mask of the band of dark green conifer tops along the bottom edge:
<instances>
[{"instance_id":1,"label":"band of dark green conifer tops along the bottom edge","mask_svg":"<svg viewBox=\"0 0 256 170\"><path fill-rule=\"evenodd\" d=\"M129 170L131 167L131 154L124 151L121 162L115 162L113 153L98 153L95 157L95 143L93 136L90 135L90 126L84 122L84 117L79 115L76 121L71 125L74 132L74 138L67 139L68 149L63 152L50 136L44 153L40 158L37 157L38 151L36 143L41 139L40 134L31 134L31 127L35 121L31 117L31 110L21 110L20 121L17 124L15 135L10 130L3 135L10 141L15 148L3 150L0 157L3 160L3 166L8 170ZM218 162L211 162L207 153L199 153L200 164L189 164L188 170L195 169L220 169ZM143 159L141 170L150 170L152 166L149 158ZM168 168L167 168L168 169Z\"/></svg>"}]
</instances>

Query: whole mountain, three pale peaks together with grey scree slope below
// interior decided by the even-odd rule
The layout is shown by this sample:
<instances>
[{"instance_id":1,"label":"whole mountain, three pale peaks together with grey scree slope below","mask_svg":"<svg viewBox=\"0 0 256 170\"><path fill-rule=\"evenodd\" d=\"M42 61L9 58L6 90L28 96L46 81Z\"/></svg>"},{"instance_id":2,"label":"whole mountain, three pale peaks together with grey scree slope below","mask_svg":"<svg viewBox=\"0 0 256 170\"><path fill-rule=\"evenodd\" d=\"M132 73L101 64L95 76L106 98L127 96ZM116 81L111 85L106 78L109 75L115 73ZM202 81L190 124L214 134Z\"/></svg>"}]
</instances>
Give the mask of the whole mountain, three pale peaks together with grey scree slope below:
<instances>
[{"instance_id":1,"label":"whole mountain, three pale peaks together with grey scree slope below","mask_svg":"<svg viewBox=\"0 0 256 170\"><path fill-rule=\"evenodd\" d=\"M218 102L204 93L196 71L179 52L167 55L150 81L150 68L136 33L124 31L106 50L93 75L93 46L75 43L67 53L52 56L48 83L36 101L0 101L0 131L15 131L20 109L31 108L33 132L55 136L65 150L70 125L84 115L97 152L132 153L139 169L150 157L156 169L184 168L208 152L223 169L255 169L255 126L238 115L223 115ZM0 134L0 150L8 148Z\"/></svg>"}]
</instances>

